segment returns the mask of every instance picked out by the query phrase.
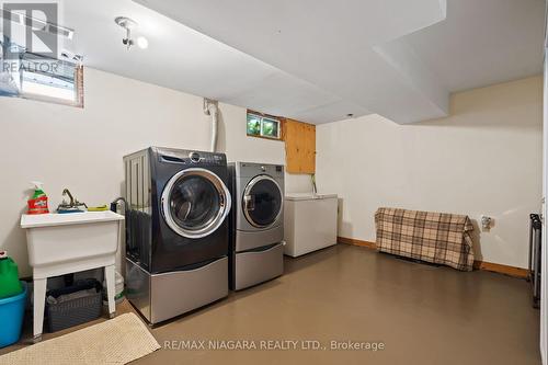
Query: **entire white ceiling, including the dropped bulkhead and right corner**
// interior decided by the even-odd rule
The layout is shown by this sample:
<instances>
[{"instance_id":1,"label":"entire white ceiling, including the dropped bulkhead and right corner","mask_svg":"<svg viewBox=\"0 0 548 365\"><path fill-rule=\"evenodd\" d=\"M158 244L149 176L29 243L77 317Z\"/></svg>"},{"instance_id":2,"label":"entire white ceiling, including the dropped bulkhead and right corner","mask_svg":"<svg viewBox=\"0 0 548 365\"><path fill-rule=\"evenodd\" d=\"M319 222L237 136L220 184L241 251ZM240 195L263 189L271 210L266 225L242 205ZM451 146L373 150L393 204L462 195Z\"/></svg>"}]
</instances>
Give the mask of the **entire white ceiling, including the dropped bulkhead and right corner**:
<instances>
[{"instance_id":1,"label":"entire white ceiling, including the dropped bulkhead and right corner","mask_svg":"<svg viewBox=\"0 0 548 365\"><path fill-rule=\"evenodd\" d=\"M76 30L66 46L89 67L309 123L349 113L410 123L446 115L453 91L540 73L544 7L65 0L61 25ZM118 15L139 23L148 49L124 48Z\"/></svg>"}]
</instances>

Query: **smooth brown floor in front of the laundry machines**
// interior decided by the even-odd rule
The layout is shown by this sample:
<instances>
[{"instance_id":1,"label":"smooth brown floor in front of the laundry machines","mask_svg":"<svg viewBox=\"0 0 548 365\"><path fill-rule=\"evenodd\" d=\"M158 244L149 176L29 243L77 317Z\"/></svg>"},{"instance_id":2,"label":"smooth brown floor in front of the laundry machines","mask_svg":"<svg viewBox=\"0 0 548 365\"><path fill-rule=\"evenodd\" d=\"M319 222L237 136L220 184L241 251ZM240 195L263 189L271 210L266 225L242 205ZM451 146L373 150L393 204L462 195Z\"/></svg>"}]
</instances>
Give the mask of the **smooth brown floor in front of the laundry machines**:
<instances>
[{"instance_id":1,"label":"smooth brown floor in front of the laundry machines","mask_svg":"<svg viewBox=\"0 0 548 365\"><path fill-rule=\"evenodd\" d=\"M128 310L126 303L118 312ZM151 331L163 349L135 364L540 364L539 312L525 281L341 244L288 259L284 276ZM256 347L296 341L297 349L167 349L187 340L205 340L206 349L208 341L246 340ZM269 340L279 342L261 342ZM385 349L335 351L331 341Z\"/></svg>"}]
</instances>

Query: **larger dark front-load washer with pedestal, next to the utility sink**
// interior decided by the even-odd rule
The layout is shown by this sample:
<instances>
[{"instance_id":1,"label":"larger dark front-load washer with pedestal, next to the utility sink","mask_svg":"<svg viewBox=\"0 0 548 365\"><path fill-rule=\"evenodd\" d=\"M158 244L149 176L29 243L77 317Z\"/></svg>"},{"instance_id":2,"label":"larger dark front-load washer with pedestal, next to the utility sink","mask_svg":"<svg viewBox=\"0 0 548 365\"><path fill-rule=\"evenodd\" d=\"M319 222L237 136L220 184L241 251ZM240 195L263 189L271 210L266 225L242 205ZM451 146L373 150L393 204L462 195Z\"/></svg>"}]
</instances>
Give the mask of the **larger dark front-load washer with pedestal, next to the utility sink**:
<instances>
[{"instance_id":1,"label":"larger dark front-load washer with pedestal, next to the utility sink","mask_svg":"<svg viewBox=\"0 0 548 365\"><path fill-rule=\"evenodd\" d=\"M124 164L129 301L157 323L227 296L226 156L150 147Z\"/></svg>"}]
</instances>

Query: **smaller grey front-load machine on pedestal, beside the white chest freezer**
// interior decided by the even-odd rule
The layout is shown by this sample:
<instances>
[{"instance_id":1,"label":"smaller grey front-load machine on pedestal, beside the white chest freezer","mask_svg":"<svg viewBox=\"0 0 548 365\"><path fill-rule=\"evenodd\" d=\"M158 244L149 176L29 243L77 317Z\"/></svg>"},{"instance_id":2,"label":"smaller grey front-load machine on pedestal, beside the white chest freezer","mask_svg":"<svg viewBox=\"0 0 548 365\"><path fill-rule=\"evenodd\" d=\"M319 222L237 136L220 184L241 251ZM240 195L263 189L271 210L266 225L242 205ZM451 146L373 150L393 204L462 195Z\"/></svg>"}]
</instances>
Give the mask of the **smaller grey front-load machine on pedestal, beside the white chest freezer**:
<instances>
[{"instance_id":1,"label":"smaller grey front-load machine on pedestal, beside the white chest freezer","mask_svg":"<svg viewBox=\"0 0 548 365\"><path fill-rule=\"evenodd\" d=\"M228 164L232 191L230 288L243 289L284 272L284 167Z\"/></svg>"}]
</instances>

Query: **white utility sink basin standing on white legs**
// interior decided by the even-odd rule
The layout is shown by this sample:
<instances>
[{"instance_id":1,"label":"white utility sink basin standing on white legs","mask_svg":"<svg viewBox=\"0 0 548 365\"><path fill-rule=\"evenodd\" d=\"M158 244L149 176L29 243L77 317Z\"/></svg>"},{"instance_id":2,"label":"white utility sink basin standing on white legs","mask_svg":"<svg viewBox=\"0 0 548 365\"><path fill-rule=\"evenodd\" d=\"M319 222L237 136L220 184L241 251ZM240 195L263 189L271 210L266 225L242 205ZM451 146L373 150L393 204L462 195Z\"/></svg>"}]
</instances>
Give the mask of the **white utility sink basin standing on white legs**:
<instances>
[{"instance_id":1,"label":"white utility sink basin standing on white legs","mask_svg":"<svg viewBox=\"0 0 548 365\"><path fill-rule=\"evenodd\" d=\"M34 280L34 338L42 337L47 277L104 267L109 312L115 312L114 264L124 216L114 212L23 215Z\"/></svg>"}]
</instances>

